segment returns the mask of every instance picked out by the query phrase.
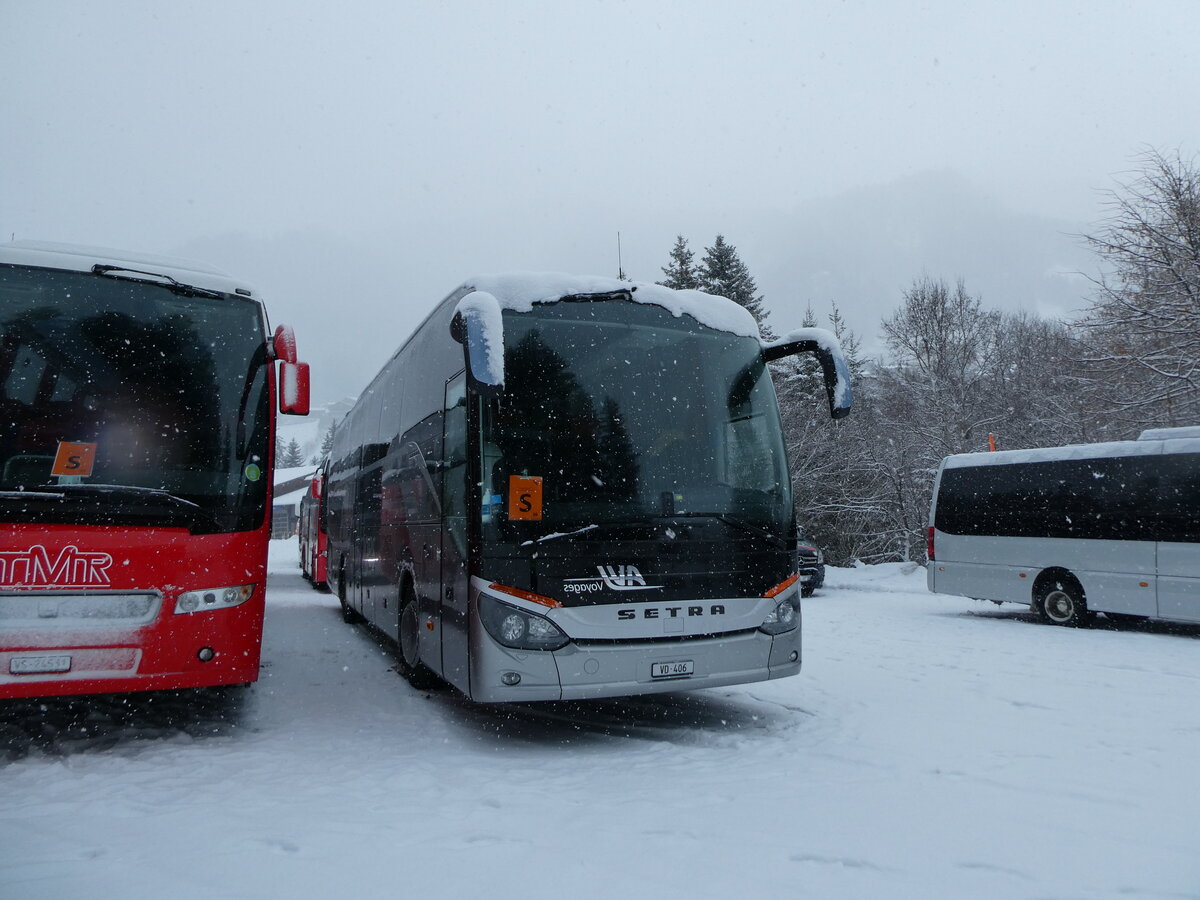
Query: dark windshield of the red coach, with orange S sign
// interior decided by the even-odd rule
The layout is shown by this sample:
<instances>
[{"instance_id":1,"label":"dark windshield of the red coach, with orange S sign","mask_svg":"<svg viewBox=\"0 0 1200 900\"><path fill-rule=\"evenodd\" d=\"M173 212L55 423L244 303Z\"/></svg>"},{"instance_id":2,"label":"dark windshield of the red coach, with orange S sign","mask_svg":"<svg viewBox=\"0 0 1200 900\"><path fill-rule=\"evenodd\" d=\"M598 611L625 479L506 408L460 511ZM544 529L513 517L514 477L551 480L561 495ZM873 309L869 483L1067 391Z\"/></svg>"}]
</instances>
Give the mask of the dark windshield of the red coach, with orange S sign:
<instances>
[{"instance_id":1,"label":"dark windshield of the red coach, with orange S sign","mask_svg":"<svg viewBox=\"0 0 1200 900\"><path fill-rule=\"evenodd\" d=\"M0 521L258 527L265 353L254 300L0 265Z\"/></svg>"}]
</instances>

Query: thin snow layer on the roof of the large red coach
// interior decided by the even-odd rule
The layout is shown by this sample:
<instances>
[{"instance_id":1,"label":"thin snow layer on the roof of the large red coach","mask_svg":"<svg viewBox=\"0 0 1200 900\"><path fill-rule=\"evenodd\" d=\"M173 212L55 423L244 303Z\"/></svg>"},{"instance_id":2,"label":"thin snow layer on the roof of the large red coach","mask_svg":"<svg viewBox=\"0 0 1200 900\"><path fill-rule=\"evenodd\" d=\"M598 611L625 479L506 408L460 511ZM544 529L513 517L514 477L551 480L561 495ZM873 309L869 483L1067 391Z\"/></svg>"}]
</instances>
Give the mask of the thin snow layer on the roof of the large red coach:
<instances>
[{"instance_id":1,"label":"thin snow layer on the roof of the large red coach","mask_svg":"<svg viewBox=\"0 0 1200 900\"><path fill-rule=\"evenodd\" d=\"M32 265L41 269L64 269L76 272L90 272L94 265L127 266L154 275L167 275L181 284L226 294L239 293L242 296L257 296L248 284L235 281L220 269L214 269L204 263L110 247L50 241L12 241L0 244L0 263Z\"/></svg>"}]
</instances>

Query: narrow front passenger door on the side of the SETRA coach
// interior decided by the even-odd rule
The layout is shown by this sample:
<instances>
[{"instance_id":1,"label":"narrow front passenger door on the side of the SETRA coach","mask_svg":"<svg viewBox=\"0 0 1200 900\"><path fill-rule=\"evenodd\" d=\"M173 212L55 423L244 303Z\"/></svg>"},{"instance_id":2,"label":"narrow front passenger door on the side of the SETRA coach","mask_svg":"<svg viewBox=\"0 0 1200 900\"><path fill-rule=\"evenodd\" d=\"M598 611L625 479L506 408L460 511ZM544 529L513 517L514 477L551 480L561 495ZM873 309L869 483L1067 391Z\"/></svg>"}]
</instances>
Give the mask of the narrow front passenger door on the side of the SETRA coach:
<instances>
[{"instance_id":1,"label":"narrow front passenger door on the side of the SETRA coach","mask_svg":"<svg viewBox=\"0 0 1200 900\"><path fill-rule=\"evenodd\" d=\"M442 440L442 677L468 690L467 666L467 377L445 389Z\"/></svg>"}]
</instances>

